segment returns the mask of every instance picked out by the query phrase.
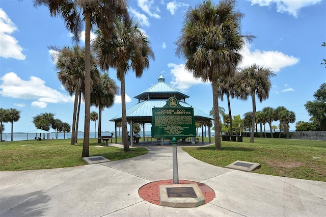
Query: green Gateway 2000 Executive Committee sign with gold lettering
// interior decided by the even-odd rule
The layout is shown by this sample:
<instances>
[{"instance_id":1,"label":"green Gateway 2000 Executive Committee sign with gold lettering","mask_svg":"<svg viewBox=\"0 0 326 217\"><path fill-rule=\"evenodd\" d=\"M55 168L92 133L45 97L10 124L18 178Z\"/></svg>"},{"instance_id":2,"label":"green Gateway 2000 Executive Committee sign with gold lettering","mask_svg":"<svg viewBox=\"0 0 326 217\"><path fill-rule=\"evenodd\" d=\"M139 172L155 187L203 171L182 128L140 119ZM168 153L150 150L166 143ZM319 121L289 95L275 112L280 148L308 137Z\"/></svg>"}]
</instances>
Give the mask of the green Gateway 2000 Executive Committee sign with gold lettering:
<instances>
[{"instance_id":1,"label":"green Gateway 2000 Executive Committee sign with gold lettering","mask_svg":"<svg viewBox=\"0 0 326 217\"><path fill-rule=\"evenodd\" d=\"M154 107L152 116L153 138L196 137L194 108L184 107L170 97L163 107Z\"/></svg>"}]
</instances>

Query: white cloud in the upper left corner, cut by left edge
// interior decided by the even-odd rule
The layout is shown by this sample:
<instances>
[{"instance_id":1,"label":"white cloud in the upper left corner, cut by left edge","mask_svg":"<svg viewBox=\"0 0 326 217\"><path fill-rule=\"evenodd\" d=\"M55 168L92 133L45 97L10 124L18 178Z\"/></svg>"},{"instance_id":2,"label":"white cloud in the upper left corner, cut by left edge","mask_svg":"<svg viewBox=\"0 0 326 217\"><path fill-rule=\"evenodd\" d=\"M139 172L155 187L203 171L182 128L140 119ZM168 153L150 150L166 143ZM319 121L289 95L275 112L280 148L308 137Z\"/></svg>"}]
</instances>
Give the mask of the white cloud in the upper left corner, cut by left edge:
<instances>
[{"instance_id":1,"label":"white cloud in the upper left corner, cut by left edge","mask_svg":"<svg viewBox=\"0 0 326 217\"><path fill-rule=\"evenodd\" d=\"M16 25L7 16L6 12L0 8L0 57L25 60L26 56L22 54L22 47L11 36L17 30Z\"/></svg>"}]
</instances>

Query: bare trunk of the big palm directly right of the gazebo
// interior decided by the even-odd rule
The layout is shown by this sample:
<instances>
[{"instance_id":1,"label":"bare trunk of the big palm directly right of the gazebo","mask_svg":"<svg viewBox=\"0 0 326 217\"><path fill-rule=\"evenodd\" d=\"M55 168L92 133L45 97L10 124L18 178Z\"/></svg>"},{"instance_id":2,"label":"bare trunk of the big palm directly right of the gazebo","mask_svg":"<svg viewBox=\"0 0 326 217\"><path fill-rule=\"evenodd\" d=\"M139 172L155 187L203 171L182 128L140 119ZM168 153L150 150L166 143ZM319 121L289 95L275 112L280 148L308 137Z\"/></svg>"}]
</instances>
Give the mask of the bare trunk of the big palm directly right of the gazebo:
<instances>
[{"instance_id":1,"label":"bare trunk of the big palm directly right of the gazebo","mask_svg":"<svg viewBox=\"0 0 326 217\"><path fill-rule=\"evenodd\" d=\"M221 126L219 113L219 94L217 79L212 81L213 107L214 107L214 126L215 126L215 149L222 150Z\"/></svg>"}]
</instances>

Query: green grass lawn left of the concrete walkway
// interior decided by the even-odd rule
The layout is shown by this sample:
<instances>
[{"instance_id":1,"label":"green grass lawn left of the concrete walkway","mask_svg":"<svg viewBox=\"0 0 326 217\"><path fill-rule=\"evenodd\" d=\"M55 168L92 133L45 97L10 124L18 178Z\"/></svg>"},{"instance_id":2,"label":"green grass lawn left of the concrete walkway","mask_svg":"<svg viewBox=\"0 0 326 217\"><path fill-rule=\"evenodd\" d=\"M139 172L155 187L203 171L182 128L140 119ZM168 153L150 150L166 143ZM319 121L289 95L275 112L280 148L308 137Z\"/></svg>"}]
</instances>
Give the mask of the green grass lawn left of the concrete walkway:
<instances>
[{"instance_id":1,"label":"green grass lawn left of the concrete walkway","mask_svg":"<svg viewBox=\"0 0 326 217\"><path fill-rule=\"evenodd\" d=\"M124 152L117 147L95 147L101 145L90 139L90 156L101 155L110 160L120 160L146 154L145 148L130 148ZM70 145L66 140L26 140L0 143L0 171L38 170L87 165L82 159L83 139Z\"/></svg>"}]
</instances>

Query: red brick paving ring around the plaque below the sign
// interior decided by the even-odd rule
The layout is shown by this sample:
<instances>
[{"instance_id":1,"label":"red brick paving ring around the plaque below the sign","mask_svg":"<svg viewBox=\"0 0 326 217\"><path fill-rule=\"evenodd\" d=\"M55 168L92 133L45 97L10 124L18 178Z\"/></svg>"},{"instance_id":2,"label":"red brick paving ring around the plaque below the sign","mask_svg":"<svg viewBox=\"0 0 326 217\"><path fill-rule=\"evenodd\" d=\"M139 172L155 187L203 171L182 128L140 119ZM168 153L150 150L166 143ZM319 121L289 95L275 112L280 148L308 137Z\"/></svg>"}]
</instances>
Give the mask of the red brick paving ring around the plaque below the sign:
<instances>
[{"instance_id":1,"label":"red brick paving ring around the plaque below the sign","mask_svg":"<svg viewBox=\"0 0 326 217\"><path fill-rule=\"evenodd\" d=\"M205 203L208 203L215 198L215 192L213 191L212 188L210 188L206 184L195 182L195 181L179 180L179 184L188 184L188 183L198 184L200 190L202 191L202 194L205 197ZM173 180L167 179L167 180L150 182L148 184L141 186L138 190L138 194L144 200L155 205L160 205L159 185L161 184L173 184Z\"/></svg>"}]
</instances>

